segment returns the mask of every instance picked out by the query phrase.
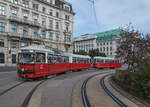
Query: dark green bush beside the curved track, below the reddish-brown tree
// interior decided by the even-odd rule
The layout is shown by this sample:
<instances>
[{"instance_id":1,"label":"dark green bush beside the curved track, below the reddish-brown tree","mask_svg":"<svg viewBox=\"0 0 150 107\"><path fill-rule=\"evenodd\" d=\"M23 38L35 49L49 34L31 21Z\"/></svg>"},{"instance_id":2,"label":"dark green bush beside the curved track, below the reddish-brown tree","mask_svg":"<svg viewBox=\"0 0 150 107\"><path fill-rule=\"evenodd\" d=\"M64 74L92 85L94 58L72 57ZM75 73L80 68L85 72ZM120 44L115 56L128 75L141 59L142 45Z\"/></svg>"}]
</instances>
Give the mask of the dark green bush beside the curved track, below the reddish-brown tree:
<instances>
[{"instance_id":1,"label":"dark green bush beside the curved track, below the reddish-brown tree","mask_svg":"<svg viewBox=\"0 0 150 107\"><path fill-rule=\"evenodd\" d=\"M138 66L138 72L117 71L113 78L120 82L123 88L129 89L135 95L150 99L150 59L143 60ZM125 86L126 85L126 86Z\"/></svg>"}]
</instances>

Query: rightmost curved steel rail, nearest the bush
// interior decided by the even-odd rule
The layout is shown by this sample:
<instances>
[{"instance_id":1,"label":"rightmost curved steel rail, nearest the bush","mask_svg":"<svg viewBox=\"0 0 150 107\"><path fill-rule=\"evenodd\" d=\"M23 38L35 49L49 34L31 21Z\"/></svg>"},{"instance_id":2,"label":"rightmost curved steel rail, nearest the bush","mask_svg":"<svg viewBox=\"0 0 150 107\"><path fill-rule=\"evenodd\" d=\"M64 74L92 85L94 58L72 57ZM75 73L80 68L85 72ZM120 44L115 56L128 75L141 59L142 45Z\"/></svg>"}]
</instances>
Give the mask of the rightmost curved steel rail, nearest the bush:
<instances>
[{"instance_id":1,"label":"rightmost curved steel rail, nearest the bush","mask_svg":"<svg viewBox=\"0 0 150 107\"><path fill-rule=\"evenodd\" d=\"M106 75L108 76L108 75ZM105 83L104 83L104 79L105 77L104 76L101 80L100 80L100 85L101 87L104 89L104 91L117 103L120 105L120 107L127 107L126 104L124 104L121 100L119 100L117 97L115 97L109 90L108 88L105 86Z\"/></svg>"}]
</instances>

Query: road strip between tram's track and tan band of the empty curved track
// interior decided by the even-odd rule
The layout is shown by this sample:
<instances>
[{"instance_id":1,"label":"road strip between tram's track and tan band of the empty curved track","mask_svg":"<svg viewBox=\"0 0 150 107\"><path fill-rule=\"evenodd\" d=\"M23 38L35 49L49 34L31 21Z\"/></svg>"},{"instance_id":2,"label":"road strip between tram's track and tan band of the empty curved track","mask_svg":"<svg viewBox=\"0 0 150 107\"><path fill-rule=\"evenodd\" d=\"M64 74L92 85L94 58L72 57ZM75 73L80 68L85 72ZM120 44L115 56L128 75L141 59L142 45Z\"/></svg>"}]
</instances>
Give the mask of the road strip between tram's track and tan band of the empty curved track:
<instances>
[{"instance_id":1,"label":"road strip between tram's track and tan band of the empty curved track","mask_svg":"<svg viewBox=\"0 0 150 107\"><path fill-rule=\"evenodd\" d=\"M29 107L71 107L75 84L99 72L101 71L73 72L48 80L36 90Z\"/></svg>"}]
</instances>

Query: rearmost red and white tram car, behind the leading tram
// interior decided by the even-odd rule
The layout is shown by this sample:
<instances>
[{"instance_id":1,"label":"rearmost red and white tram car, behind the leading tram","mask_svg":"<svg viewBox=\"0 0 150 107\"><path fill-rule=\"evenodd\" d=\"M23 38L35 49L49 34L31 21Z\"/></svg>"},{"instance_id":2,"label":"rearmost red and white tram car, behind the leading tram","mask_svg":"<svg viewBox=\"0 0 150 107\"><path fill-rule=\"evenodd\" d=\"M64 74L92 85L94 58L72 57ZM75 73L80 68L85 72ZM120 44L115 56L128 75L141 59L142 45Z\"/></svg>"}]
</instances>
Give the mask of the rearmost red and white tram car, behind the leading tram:
<instances>
[{"instance_id":1,"label":"rearmost red and white tram car, behind the leading tram","mask_svg":"<svg viewBox=\"0 0 150 107\"><path fill-rule=\"evenodd\" d=\"M110 57L94 57L95 68L117 68L121 67L119 60Z\"/></svg>"}]
</instances>

